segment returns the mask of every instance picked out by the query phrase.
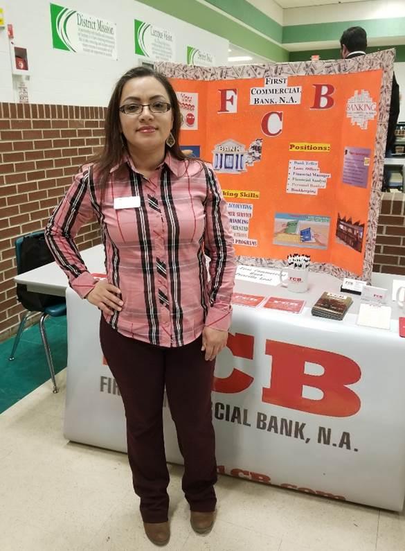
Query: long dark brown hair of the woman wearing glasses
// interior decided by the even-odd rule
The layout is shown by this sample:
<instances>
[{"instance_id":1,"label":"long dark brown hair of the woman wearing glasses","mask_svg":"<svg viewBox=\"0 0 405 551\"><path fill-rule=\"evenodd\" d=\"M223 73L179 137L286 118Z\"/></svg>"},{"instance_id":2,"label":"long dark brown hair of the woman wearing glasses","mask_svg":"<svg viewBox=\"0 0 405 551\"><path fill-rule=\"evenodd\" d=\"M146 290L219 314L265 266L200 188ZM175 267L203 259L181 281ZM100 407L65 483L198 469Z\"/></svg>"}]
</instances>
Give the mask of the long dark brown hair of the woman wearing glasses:
<instances>
[{"instance_id":1,"label":"long dark brown hair of the woman wearing glasses","mask_svg":"<svg viewBox=\"0 0 405 551\"><path fill-rule=\"evenodd\" d=\"M116 164L119 163L123 155L123 147L126 146L125 137L123 136L123 134L121 134L120 131L120 117L118 113L118 107L120 105L120 98L123 93L123 87L125 86L126 82L131 78L141 78L144 76L152 76L153 78L156 78L156 80L159 80L159 82L161 82L161 85L163 85L165 91L168 93L170 105L172 105L172 134L174 137L174 145L169 148L166 144L165 149L170 149L171 154L176 159L179 159L181 161L183 159L188 159L188 157L186 157L186 155L184 155L184 153L181 151L179 146L181 112L179 101L177 100L176 92L174 91L172 85L164 75L158 73L157 71L154 71L153 69L150 69L149 67L134 67L134 69L129 69L129 71L123 74L123 76L116 83L116 87L114 88L114 91L109 100L107 114L105 116L105 144L100 154L95 159L93 159L93 161L96 163L96 169L99 176L99 184L100 186L102 186L102 188L105 188L105 184L107 183L109 177L109 171L113 166L116 166Z\"/></svg>"}]
</instances>

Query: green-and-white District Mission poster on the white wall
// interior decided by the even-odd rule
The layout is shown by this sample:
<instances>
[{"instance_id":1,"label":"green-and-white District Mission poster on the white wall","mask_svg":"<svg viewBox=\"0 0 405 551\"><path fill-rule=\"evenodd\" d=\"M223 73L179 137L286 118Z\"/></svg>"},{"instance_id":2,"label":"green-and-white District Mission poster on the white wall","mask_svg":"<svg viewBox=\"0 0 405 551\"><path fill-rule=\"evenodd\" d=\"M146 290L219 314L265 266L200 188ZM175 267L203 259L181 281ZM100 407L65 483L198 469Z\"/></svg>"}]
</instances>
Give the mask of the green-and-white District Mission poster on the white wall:
<instances>
[{"instance_id":1,"label":"green-and-white District Mission poster on the white wall","mask_svg":"<svg viewBox=\"0 0 405 551\"><path fill-rule=\"evenodd\" d=\"M54 49L118 59L115 23L53 3L50 7Z\"/></svg>"}]
</instances>

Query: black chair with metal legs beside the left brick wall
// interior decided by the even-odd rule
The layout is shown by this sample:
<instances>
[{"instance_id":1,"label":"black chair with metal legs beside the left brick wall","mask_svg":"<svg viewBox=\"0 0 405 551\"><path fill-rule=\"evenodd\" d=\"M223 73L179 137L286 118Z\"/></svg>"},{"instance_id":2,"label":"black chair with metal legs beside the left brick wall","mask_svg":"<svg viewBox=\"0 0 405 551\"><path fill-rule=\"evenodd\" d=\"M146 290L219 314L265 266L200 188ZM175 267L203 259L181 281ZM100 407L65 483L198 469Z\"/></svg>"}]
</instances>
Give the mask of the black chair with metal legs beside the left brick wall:
<instances>
[{"instance_id":1,"label":"black chair with metal legs beside the left brick wall","mask_svg":"<svg viewBox=\"0 0 405 551\"><path fill-rule=\"evenodd\" d=\"M41 255L41 258L37 257L37 259L32 261L32 263L30 263L29 260L27 262L27 259L24 258L23 252L24 239L30 238L35 238L35 240L38 240L37 246L42 249L43 253ZM53 262L53 256L48 250L48 247L44 240L44 231L34 231L32 234L17 238L17 240L15 241L15 256L17 259L18 274L33 270L34 268L39 268L40 265ZM48 316L60 317L62 315L66 315L66 301L62 297L55 297L55 295L42 295L42 293L27 291L26 286L20 284L17 284L17 297L28 312L21 318L17 335L15 335L12 352L10 354L10 358L8 359L14 360L15 358L15 351L17 350L17 346L21 338L21 334L24 331L24 326L26 324L26 321L28 320L28 317L30 315L42 312L42 316L39 318L39 329L41 331L42 342L44 344L44 349L46 353L46 360L48 361L48 367L51 373L53 392L59 392L56 386L55 369L53 368L51 349L49 348L48 338L46 337L45 320Z\"/></svg>"}]
</instances>

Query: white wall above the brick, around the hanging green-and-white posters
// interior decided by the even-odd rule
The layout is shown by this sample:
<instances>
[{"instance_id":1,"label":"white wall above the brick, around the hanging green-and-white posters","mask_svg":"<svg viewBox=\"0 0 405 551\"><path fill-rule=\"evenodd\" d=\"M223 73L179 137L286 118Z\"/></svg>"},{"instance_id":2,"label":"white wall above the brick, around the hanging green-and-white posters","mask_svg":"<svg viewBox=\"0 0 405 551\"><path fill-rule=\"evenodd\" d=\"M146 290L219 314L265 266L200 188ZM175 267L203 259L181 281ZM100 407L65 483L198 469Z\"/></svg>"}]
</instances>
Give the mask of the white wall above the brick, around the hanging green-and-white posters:
<instances>
[{"instance_id":1,"label":"white wall above the brick, around the hanging green-and-white posters","mask_svg":"<svg viewBox=\"0 0 405 551\"><path fill-rule=\"evenodd\" d=\"M138 64L134 53L134 19L166 28L175 35L175 61L186 63L186 46L195 46L212 53L216 65L226 65L228 40L143 3L134 0L53 0L53 3L116 23L118 60L53 49L49 1L3 0L6 24L14 27L15 43L28 49L30 103L107 105L116 80ZM0 101L15 102L8 42L6 30L0 30Z\"/></svg>"}]
</instances>

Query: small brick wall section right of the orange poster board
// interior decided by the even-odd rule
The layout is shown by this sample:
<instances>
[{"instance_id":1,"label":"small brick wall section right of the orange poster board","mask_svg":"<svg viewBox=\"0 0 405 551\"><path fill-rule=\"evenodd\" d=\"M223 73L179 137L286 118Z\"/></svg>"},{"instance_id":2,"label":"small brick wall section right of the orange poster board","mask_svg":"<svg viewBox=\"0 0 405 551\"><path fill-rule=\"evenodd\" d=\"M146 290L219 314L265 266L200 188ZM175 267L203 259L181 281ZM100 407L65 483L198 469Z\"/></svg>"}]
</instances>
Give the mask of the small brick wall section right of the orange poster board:
<instances>
[{"instance_id":1,"label":"small brick wall section right of the orange poster board","mask_svg":"<svg viewBox=\"0 0 405 551\"><path fill-rule=\"evenodd\" d=\"M384 193L378 220L374 272L405 275L405 194Z\"/></svg>"}]
</instances>

